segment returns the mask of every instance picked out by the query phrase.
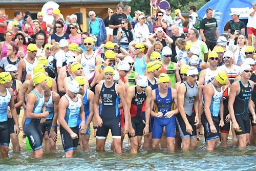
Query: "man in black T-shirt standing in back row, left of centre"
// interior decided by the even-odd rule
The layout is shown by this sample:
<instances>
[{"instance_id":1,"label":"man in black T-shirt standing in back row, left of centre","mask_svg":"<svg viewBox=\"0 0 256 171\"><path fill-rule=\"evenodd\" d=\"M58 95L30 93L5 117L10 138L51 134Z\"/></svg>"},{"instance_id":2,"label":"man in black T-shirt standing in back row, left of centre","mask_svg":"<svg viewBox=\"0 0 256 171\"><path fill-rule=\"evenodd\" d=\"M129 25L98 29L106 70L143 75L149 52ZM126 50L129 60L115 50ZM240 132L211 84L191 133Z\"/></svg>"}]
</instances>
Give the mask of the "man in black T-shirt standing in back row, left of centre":
<instances>
[{"instance_id":1,"label":"man in black T-shirt standing in back row, left of centre","mask_svg":"<svg viewBox=\"0 0 256 171\"><path fill-rule=\"evenodd\" d=\"M122 19L127 18L126 15L123 13L123 5L118 4L116 7L116 13L113 14L110 18L109 27L114 29L113 31L113 42L117 42L117 30L118 28L122 27Z\"/></svg>"}]
</instances>

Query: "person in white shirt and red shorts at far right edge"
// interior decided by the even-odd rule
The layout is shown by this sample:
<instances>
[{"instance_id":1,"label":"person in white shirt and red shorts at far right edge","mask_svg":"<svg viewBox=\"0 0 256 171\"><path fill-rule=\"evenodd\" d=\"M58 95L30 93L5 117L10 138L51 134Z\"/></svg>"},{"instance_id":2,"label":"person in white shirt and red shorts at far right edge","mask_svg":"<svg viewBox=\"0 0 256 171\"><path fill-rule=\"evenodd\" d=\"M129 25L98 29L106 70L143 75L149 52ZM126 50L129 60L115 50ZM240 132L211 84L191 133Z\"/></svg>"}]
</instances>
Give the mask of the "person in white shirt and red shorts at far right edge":
<instances>
[{"instance_id":1,"label":"person in white shirt and red shorts at far right edge","mask_svg":"<svg viewBox=\"0 0 256 171\"><path fill-rule=\"evenodd\" d=\"M247 33L248 33L248 45L253 46L253 43L251 42L252 39L252 33L254 34L254 47L256 48L256 1L252 3L252 8L248 11L248 23L247 23Z\"/></svg>"}]
</instances>

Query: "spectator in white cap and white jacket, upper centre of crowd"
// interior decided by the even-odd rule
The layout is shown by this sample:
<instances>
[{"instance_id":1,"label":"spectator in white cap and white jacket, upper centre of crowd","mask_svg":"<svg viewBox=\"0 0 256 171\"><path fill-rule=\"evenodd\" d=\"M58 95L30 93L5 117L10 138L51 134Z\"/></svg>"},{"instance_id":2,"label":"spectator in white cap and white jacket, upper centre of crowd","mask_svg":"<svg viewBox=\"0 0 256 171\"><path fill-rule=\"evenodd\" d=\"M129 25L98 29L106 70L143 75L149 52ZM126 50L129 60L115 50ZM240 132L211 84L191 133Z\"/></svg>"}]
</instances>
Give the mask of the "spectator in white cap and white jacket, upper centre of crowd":
<instances>
[{"instance_id":1,"label":"spectator in white cap and white jacket, upper centre of crowd","mask_svg":"<svg viewBox=\"0 0 256 171\"><path fill-rule=\"evenodd\" d=\"M145 24L145 16L140 15L138 18L138 23L134 26L135 36L137 42L146 42L148 41L148 35L150 30L148 30L147 25Z\"/></svg>"}]
</instances>

